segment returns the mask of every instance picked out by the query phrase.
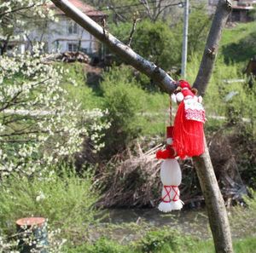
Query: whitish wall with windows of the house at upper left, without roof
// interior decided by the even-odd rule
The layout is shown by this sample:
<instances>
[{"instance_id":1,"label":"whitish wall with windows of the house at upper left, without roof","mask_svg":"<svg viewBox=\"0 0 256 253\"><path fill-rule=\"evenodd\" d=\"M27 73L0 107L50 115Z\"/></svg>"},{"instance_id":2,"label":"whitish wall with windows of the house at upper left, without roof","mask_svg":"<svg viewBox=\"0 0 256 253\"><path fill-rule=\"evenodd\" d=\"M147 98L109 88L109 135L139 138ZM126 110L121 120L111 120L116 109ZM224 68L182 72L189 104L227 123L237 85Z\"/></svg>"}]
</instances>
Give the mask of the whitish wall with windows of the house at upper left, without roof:
<instances>
[{"instance_id":1,"label":"whitish wall with windows of the house at upper left, without roof","mask_svg":"<svg viewBox=\"0 0 256 253\"><path fill-rule=\"evenodd\" d=\"M96 53L98 43L95 37L79 25L76 33L70 33L68 26L71 22L67 16L61 15L58 22L48 21L41 28L35 28L28 35L27 49L30 47L29 41L38 41L45 43L45 51L48 53L66 52L68 44L80 45L80 50L87 54Z\"/></svg>"}]
</instances>

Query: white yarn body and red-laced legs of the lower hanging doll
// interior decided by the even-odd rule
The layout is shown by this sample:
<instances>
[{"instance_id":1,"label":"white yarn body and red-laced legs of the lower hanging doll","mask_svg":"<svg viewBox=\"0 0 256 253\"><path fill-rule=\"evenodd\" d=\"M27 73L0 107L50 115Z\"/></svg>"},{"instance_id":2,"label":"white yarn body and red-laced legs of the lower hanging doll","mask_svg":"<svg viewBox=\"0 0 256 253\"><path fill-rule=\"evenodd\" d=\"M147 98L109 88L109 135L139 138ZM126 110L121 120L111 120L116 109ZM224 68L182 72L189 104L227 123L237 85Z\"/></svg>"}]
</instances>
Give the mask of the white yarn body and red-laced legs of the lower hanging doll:
<instances>
[{"instance_id":1,"label":"white yarn body and red-laced legs of the lower hanging doll","mask_svg":"<svg viewBox=\"0 0 256 253\"><path fill-rule=\"evenodd\" d=\"M178 186L182 180L182 174L176 159L166 159L161 164L160 179L164 185L162 189L162 201L158 209L162 212L181 210L183 202L179 199Z\"/></svg>"}]
</instances>

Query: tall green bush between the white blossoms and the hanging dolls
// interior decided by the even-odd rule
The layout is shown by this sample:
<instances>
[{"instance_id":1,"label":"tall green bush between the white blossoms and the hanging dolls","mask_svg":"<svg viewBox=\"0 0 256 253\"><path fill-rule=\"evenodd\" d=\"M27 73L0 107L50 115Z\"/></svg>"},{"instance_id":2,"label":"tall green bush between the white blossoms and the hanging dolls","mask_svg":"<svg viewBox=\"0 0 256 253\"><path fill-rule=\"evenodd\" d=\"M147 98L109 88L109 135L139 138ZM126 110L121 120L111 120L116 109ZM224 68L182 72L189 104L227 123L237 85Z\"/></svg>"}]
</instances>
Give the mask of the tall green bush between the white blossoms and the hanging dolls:
<instances>
[{"instance_id":1,"label":"tall green bush between the white blossoms and the hanging dolls","mask_svg":"<svg viewBox=\"0 0 256 253\"><path fill-rule=\"evenodd\" d=\"M111 155L124 149L142 129L138 113L142 111L144 92L131 75L129 67L113 67L103 75L103 108L108 110L111 126L105 133L106 150ZM109 151L112 152L109 152Z\"/></svg>"}]
</instances>

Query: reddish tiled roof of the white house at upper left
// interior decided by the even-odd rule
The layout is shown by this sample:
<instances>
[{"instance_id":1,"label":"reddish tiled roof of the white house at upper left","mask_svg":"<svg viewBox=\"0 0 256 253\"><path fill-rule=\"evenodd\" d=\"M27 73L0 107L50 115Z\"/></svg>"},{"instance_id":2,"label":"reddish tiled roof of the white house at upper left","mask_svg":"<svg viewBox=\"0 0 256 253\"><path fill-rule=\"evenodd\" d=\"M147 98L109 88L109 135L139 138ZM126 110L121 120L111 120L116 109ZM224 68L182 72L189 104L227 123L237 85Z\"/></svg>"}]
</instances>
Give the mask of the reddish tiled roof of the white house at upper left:
<instances>
[{"instance_id":1,"label":"reddish tiled roof of the white house at upper left","mask_svg":"<svg viewBox=\"0 0 256 253\"><path fill-rule=\"evenodd\" d=\"M88 16L106 16L102 11L95 9L91 5L84 3L80 0L68 0L69 3L73 4L75 7L77 7L79 10L81 10L84 14L87 14ZM54 3L49 3L49 8L55 8ZM57 9L57 14L64 14L60 9Z\"/></svg>"}]
</instances>

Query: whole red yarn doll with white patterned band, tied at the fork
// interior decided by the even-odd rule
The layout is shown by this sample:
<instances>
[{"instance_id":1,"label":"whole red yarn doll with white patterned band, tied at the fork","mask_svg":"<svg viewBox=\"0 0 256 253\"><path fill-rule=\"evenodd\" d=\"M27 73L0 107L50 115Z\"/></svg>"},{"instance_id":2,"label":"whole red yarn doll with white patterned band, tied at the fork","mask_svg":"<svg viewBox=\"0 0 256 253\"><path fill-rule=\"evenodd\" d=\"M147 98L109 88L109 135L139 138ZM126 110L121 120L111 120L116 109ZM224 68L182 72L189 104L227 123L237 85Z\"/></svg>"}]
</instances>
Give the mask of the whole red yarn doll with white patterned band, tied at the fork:
<instances>
[{"instance_id":1,"label":"whole red yarn doll with white patterned band, tied at the fork","mask_svg":"<svg viewBox=\"0 0 256 253\"><path fill-rule=\"evenodd\" d=\"M205 110L201 105L202 98L197 97L188 82L177 82L181 91L172 95L172 100L180 102L173 129L173 148L177 155L184 159L201 155L204 149Z\"/></svg>"}]
</instances>

